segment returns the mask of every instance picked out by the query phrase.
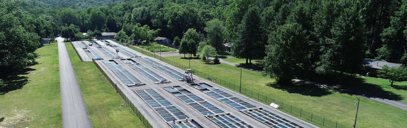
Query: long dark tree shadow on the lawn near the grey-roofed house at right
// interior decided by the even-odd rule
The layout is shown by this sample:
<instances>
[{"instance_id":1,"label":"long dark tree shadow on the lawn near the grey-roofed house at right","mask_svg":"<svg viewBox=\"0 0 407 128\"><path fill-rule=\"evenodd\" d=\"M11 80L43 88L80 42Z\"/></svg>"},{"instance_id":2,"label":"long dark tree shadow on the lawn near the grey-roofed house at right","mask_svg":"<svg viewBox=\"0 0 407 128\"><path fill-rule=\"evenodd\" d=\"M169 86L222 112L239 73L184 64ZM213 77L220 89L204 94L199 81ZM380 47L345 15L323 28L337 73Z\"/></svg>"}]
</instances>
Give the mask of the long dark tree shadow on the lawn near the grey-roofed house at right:
<instances>
[{"instance_id":1,"label":"long dark tree shadow on the lawn near the grey-roofed house at right","mask_svg":"<svg viewBox=\"0 0 407 128\"><path fill-rule=\"evenodd\" d=\"M337 85L338 78L339 77L330 76L321 79L316 78L313 80L317 80L317 83L314 83L316 86L335 90L342 94L358 95L367 98L382 98L388 100L404 99L404 96L383 89L388 85L368 83L365 79L363 79L363 77L346 74L344 75L343 83L341 85ZM399 87L401 90L407 89L407 87L397 87ZM394 86L394 88L396 88L396 86Z\"/></svg>"}]
</instances>

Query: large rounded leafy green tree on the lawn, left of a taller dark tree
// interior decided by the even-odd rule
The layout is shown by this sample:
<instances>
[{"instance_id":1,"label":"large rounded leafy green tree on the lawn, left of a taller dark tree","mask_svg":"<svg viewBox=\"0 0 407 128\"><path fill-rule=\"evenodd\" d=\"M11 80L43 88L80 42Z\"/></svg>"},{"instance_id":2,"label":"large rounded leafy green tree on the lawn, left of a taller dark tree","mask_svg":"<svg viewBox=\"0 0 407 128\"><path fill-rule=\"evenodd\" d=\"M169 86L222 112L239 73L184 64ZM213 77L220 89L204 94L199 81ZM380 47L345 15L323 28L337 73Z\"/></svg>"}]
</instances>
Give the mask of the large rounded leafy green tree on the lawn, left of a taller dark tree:
<instances>
[{"instance_id":1,"label":"large rounded leafy green tree on the lawn, left of a taller dark tree","mask_svg":"<svg viewBox=\"0 0 407 128\"><path fill-rule=\"evenodd\" d=\"M267 56L262 60L263 76L270 75L278 83L290 82L294 71L299 71L308 60L308 38L306 30L298 23L280 26L269 37Z\"/></svg>"}]
</instances>

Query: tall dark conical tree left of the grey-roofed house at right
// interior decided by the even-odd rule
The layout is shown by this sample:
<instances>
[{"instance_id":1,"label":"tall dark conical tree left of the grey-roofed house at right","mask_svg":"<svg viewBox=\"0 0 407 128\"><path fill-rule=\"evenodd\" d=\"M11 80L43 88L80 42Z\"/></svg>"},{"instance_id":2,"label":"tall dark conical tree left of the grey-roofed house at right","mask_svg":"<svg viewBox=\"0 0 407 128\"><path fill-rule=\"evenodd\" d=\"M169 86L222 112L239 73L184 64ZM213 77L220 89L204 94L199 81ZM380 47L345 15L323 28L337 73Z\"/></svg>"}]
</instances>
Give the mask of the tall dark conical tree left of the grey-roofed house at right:
<instances>
[{"instance_id":1,"label":"tall dark conical tree left of the grey-roofed house at right","mask_svg":"<svg viewBox=\"0 0 407 128\"><path fill-rule=\"evenodd\" d=\"M344 73L356 73L365 58L365 34L363 22L355 7L346 8L335 19L330 30L332 38L326 38L320 56L321 65L317 73L339 71L339 84Z\"/></svg>"}]
</instances>

